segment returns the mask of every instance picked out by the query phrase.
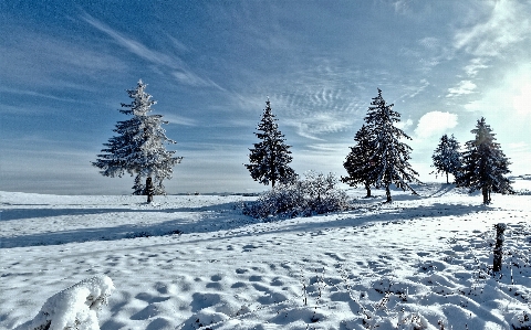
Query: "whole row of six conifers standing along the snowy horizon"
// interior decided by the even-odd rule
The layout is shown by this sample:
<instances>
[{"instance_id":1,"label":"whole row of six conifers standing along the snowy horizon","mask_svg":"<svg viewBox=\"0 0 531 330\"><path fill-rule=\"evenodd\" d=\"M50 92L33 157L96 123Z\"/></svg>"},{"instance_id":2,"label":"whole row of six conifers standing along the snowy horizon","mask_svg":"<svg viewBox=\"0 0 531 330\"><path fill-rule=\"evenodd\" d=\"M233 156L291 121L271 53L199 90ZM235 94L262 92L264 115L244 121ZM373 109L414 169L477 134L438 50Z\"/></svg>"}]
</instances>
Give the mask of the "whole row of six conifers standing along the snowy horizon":
<instances>
[{"instance_id":1,"label":"whole row of six conifers standing along the snowy horizon","mask_svg":"<svg viewBox=\"0 0 531 330\"><path fill-rule=\"evenodd\" d=\"M160 115L148 115L156 102L145 88L146 84L140 79L135 89L127 89L133 102L122 104L125 109L119 111L132 117L116 124L114 131L117 136L104 143L106 148L92 164L106 177L122 177L126 172L135 177L133 193L147 195L150 202L154 194L166 193L163 180L171 179L173 167L183 158L176 157L176 151L166 150L165 145L176 142L167 138L162 128L167 121ZM392 184L416 194L412 184L421 182L409 163L412 148L405 140L412 138L396 125L400 121L400 114L393 109L393 104L385 102L382 89L377 91L343 163L347 175L341 180L351 187L364 187L367 196L372 195L372 188L384 189L386 201L392 202ZM271 183L272 189L298 180L290 167L293 160L291 146L285 143L277 121L268 98L254 132L260 141L249 149L249 163L244 164L253 180L266 185ZM492 191L512 192L511 182L506 177L510 173L510 162L485 118L478 120L471 132L475 138L466 142L465 151L460 150L454 136L440 138L431 157L435 167L431 173L445 174L447 183L448 174L452 174L457 187L468 188L470 192L481 190L487 204Z\"/></svg>"}]
</instances>

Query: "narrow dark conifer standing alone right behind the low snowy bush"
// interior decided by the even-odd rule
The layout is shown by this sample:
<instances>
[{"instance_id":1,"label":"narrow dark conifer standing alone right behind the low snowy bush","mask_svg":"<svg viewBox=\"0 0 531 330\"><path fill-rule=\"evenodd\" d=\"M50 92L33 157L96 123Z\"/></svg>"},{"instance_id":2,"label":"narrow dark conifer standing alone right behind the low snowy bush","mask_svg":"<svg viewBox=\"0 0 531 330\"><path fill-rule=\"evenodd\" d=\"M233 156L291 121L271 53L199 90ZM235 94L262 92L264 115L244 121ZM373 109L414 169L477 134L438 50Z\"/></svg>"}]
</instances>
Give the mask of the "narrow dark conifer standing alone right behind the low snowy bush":
<instances>
[{"instance_id":1,"label":"narrow dark conifer standing alone right behind the low snowy bush","mask_svg":"<svg viewBox=\"0 0 531 330\"><path fill-rule=\"evenodd\" d=\"M285 139L277 125L277 118L271 111L269 99L266 102L262 119L258 124L259 132L254 135L261 140L254 143L254 148L249 149L249 164L246 168L251 173L254 181L266 185L271 182L274 188L277 183L287 183L295 179L296 174L289 163L291 157L291 146L285 145Z\"/></svg>"}]
</instances>

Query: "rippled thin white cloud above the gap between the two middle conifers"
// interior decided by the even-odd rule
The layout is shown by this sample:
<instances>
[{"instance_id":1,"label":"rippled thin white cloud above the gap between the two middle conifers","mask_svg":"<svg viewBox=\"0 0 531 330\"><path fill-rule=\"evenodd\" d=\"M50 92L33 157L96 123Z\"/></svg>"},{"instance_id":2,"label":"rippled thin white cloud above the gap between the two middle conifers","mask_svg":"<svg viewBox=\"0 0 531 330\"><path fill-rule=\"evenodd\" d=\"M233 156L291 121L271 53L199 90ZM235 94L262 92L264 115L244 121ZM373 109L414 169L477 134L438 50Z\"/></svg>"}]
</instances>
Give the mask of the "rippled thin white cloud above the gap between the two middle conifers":
<instances>
[{"instance_id":1,"label":"rippled thin white cloud above the gap between the two middle conifers","mask_svg":"<svg viewBox=\"0 0 531 330\"><path fill-rule=\"evenodd\" d=\"M257 118L269 96L273 114L279 118L282 131L292 130L299 137L323 141L343 131L353 131L353 126L363 120L371 98L364 97L374 72L348 67L327 58L311 58L290 72L266 76L251 91L242 86L235 100L242 108L254 109ZM256 93L258 91L258 93ZM252 93L254 92L254 93Z\"/></svg>"}]
</instances>

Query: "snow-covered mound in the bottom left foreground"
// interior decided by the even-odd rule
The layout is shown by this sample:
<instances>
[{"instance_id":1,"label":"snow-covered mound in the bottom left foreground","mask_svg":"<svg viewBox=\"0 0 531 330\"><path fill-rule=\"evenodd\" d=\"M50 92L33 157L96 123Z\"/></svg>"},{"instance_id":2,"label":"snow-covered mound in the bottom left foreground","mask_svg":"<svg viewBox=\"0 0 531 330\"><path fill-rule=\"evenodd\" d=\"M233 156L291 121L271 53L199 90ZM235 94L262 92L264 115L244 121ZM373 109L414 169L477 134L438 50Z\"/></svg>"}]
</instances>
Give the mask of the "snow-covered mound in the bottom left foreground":
<instances>
[{"instance_id":1,"label":"snow-covered mound in the bottom left foreground","mask_svg":"<svg viewBox=\"0 0 531 330\"><path fill-rule=\"evenodd\" d=\"M94 276L50 297L41 311L19 330L100 330L96 311L107 302L113 280Z\"/></svg>"}]
</instances>

